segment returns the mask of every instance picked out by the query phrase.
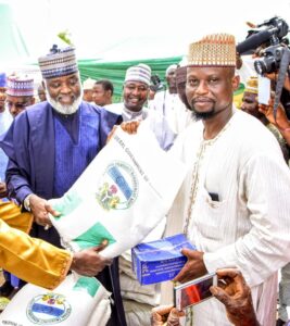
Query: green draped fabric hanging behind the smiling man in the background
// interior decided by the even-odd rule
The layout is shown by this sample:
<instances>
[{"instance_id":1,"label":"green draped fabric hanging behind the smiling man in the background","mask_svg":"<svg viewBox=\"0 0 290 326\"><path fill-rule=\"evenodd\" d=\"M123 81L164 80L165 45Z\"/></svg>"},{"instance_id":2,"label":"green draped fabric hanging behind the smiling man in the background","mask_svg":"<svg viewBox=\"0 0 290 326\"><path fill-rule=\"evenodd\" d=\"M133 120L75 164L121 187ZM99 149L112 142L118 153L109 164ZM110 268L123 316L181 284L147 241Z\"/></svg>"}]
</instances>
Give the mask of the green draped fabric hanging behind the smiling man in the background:
<instances>
[{"instance_id":1,"label":"green draped fabric hanging behind the smiling man in the background","mask_svg":"<svg viewBox=\"0 0 290 326\"><path fill-rule=\"evenodd\" d=\"M78 67L81 82L87 78L92 79L110 79L114 85L114 102L122 101L123 83L125 79L126 70L139 63L148 64L152 74L157 74L161 80L166 85L164 79L166 68L174 63L180 62L181 57L173 57L165 59L146 59L138 61L124 62L98 62L98 60L79 60Z\"/></svg>"}]
</instances>

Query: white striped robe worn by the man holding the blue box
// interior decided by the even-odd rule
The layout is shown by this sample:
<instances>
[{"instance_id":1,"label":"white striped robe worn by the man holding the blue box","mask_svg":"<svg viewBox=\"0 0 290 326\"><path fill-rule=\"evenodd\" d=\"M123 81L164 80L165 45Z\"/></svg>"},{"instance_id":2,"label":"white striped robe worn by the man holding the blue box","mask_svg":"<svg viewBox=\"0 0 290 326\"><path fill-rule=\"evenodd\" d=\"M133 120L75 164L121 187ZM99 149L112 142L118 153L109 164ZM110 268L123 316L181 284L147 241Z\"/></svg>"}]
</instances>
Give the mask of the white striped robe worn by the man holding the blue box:
<instances>
[{"instance_id":1,"label":"white striped robe worn by the man holding the blue box","mask_svg":"<svg viewBox=\"0 0 290 326\"><path fill-rule=\"evenodd\" d=\"M166 235L187 225L190 215L188 237L205 252L206 269L238 267L252 288L261 325L275 325L276 272L290 261L290 172L277 140L256 118L235 111L215 139L203 139L199 122L176 139L171 153L189 173ZM216 299L193 308L193 324L230 325Z\"/></svg>"}]
</instances>

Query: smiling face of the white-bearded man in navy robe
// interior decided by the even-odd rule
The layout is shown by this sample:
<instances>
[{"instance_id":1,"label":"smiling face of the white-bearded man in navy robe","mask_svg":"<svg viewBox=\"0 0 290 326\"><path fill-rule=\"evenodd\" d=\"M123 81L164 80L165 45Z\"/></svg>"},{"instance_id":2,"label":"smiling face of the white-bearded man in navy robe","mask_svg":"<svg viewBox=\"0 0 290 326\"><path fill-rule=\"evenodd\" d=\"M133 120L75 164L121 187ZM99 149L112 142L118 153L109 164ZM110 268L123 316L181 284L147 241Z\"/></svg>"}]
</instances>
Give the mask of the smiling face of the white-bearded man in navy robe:
<instances>
[{"instance_id":1,"label":"smiling face of the white-bearded man in navy robe","mask_svg":"<svg viewBox=\"0 0 290 326\"><path fill-rule=\"evenodd\" d=\"M78 110L83 98L78 73L46 79L45 85L48 102L60 114L70 115Z\"/></svg>"}]
</instances>

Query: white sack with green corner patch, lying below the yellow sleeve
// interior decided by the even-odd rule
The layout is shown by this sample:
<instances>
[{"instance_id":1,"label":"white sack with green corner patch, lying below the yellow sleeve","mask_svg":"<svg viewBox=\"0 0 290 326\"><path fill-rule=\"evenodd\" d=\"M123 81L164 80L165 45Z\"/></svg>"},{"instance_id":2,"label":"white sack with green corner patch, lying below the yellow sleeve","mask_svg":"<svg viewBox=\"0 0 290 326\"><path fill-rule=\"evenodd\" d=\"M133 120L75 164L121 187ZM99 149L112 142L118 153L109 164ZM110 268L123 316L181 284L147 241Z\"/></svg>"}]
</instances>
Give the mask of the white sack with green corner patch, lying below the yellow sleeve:
<instances>
[{"instance_id":1,"label":"white sack with green corner patch, lying below the yellow sleeve","mask_svg":"<svg viewBox=\"0 0 290 326\"><path fill-rule=\"evenodd\" d=\"M105 326L110 292L94 278L68 275L53 291L25 285L0 315L0 325Z\"/></svg>"}]
</instances>

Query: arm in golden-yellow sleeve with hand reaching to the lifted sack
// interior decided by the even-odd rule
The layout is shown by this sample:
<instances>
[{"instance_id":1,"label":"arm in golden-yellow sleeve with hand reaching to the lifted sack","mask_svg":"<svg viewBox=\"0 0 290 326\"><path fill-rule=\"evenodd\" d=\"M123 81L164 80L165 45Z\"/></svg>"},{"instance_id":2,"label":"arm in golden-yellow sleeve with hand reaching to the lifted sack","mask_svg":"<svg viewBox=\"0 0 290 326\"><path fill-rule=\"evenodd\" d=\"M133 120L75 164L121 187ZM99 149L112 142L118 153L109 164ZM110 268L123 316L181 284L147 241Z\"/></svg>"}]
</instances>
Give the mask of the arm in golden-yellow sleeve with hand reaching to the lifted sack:
<instances>
[{"instance_id":1,"label":"arm in golden-yellow sleeve with hand reaching to the lifted sack","mask_svg":"<svg viewBox=\"0 0 290 326\"><path fill-rule=\"evenodd\" d=\"M17 243L17 246L11 246ZM106 244L70 253L43 240L10 228L0 220L0 265L25 281L48 289L54 289L70 269L85 276L97 275L111 260L101 258L99 252Z\"/></svg>"}]
</instances>

